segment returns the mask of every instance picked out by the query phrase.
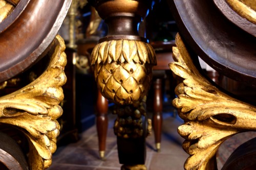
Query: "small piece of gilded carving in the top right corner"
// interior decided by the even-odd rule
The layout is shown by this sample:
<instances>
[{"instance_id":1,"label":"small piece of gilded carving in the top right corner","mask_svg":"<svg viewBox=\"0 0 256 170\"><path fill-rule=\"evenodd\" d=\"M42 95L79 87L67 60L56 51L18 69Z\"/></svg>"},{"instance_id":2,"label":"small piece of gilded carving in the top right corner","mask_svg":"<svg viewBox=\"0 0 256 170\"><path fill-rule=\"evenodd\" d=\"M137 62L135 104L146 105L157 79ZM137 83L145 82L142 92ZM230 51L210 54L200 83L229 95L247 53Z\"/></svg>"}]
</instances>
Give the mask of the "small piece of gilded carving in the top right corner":
<instances>
[{"instance_id":1,"label":"small piece of gilded carving in the top right corner","mask_svg":"<svg viewBox=\"0 0 256 170\"><path fill-rule=\"evenodd\" d=\"M256 3L254 0L226 0L229 6L240 16L256 24ZM254 3L253 3L254 2Z\"/></svg>"}]
</instances>

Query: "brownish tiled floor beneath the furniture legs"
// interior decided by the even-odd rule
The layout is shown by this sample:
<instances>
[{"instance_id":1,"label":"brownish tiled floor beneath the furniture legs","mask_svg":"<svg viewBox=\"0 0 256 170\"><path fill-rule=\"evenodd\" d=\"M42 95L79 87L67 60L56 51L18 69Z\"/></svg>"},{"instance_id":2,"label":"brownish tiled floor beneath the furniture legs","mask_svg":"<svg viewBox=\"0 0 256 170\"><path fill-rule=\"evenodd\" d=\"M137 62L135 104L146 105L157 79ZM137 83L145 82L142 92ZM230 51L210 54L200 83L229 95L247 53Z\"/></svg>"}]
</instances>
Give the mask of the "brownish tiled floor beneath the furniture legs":
<instances>
[{"instance_id":1,"label":"brownish tiled floor beneath the furniture legs","mask_svg":"<svg viewBox=\"0 0 256 170\"><path fill-rule=\"evenodd\" d=\"M59 147L53 155L51 170L106 170L120 169L118 161L116 136L113 133L114 117L110 116L108 137L106 140L106 160L102 161L98 156L98 140L96 126L91 127L81 134L76 143L65 147ZM163 130L161 152L155 151L154 134L146 138L146 162L149 170L183 169L183 164L188 155L183 151L181 145L183 138L177 133L177 127L183 120L174 118L170 113L163 114Z\"/></svg>"}]
</instances>

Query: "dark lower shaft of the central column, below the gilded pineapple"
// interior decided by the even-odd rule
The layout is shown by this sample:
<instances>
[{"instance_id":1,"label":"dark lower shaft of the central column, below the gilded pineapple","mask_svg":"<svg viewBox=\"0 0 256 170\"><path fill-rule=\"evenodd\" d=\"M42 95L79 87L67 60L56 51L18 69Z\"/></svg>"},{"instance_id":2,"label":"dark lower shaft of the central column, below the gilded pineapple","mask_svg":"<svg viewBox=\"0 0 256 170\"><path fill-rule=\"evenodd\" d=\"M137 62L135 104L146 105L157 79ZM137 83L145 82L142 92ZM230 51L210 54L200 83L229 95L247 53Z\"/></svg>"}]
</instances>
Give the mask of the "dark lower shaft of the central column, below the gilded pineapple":
<instances>
[{"instance_id":1,"label":"dark lower shaft of the central column, below the gilded pineapple","mask_svg":"<svg viewBox=\"0 0 256 170\"><path fill-rule=\"evenodd\" d=\"M117 135L117 150L122 170L145 170L146 136L148 120L146 118L146 98L135 105L116 105L113 114L117 114L114 132Z\"/></svg>"}]
</instances>

